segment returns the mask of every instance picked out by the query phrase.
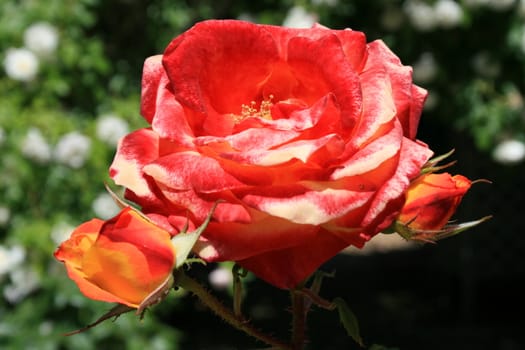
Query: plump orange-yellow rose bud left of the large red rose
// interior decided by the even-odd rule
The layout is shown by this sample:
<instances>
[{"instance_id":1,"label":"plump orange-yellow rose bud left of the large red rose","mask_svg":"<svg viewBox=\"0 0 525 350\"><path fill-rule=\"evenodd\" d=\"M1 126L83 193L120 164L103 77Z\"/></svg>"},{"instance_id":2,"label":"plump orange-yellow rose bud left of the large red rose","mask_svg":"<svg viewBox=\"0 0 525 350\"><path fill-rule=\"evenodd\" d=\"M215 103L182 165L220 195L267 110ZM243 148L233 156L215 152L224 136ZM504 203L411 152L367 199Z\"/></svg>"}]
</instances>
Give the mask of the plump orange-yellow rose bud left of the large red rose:
<instances>
[{"instance_id":1,"label":"plump orange-yellow rose bud left of the large red rose","mask_svg":"<svg viewBox=\"0 0 525 350\"><path fill-rule=\"evenodd\" d=\"M88 298L132 308L166 285L176 263L170 234L130 207L83 223L55 257Z\"/></svg>"}]
</instances>

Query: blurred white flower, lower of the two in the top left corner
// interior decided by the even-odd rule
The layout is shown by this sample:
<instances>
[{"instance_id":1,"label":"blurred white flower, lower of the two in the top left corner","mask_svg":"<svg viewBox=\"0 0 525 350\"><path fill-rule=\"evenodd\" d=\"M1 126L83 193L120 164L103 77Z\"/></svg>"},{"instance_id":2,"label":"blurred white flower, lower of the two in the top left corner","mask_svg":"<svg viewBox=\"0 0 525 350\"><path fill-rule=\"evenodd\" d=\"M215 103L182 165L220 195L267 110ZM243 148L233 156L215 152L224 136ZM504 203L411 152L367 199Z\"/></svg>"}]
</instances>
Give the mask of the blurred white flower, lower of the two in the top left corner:
<instances>
[{"instance_id":1,"label":"blurred white flower, lower of the two in the top left corner","mask_svg":"<svg viewBox=\"0 0 525 350\"><path fill-rule=\"evenodd\" d=\"M14 80L31 81L38 73L38 58L28 49L8 49L4 59L7 76Z\"/></svg>"}]
</instances>

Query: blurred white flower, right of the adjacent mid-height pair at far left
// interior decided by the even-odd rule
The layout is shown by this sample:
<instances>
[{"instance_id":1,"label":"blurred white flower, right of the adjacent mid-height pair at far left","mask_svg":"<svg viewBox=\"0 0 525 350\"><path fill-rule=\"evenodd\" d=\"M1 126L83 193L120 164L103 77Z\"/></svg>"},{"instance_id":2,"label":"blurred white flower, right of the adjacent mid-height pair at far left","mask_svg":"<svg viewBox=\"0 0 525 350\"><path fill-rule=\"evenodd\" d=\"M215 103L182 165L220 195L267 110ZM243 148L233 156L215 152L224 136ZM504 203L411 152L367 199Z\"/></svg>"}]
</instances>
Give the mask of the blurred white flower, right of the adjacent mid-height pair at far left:
<instances>
[{"instance_id":1,"label":"blurred white flower, right of the adjacent mid-height pair at far left","mask_svg":"<svg viewBox=\"0 0 525 350\"><path fill-rule=\"evenodd\" d=\"M91 148L89 137L77 131L65 134L55 146L54 156L59 163L72 168L84 165Z\"/></svg>"}]
</instances>

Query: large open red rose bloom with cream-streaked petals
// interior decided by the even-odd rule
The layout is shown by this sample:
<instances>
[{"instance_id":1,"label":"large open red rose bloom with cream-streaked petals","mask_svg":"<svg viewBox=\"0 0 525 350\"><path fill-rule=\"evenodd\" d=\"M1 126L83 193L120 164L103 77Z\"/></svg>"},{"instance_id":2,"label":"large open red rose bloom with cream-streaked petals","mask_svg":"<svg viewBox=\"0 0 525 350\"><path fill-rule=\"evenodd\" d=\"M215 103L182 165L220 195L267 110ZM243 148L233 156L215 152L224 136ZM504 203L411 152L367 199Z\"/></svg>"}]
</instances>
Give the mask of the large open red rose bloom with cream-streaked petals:
<instances>
[{"instance_id":1,"label":"large open red rose bloom with cream-streaked petals","mask_svg":"<svg viewBox=\"0 0 525 350\"><path fill-rule=\"evenodd\" d=\"M388 227L431 156L415 140L426 91L382 41L321 26L206 21L146 60L142 115L111 176L197 244L292 288Z\"/></svg>"}]
</instances>

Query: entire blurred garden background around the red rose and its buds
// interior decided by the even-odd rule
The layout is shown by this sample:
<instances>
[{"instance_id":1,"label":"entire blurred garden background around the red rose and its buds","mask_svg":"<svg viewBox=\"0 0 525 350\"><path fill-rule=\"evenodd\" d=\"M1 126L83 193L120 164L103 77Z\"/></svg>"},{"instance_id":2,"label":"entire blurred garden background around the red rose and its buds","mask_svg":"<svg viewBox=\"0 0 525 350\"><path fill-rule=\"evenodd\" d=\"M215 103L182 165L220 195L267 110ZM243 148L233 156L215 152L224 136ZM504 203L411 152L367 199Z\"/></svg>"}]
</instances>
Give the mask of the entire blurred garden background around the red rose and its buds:
<instances>
[{"instance_id":1,"label":"entire blurred garden background around the red rose and its buds","mask_svg":"<svg viewBox=\"0 0 525 350\"><path fill-rule=\"evenodd\" d=\"M0 348L253 349L179 293L143 321L124 315L73 337L108 305L84 298L52 253L79 223L117 208L103 183L139 115L146 57L209 18L381 38L429 90L418 137L476 184L456 218L494 218L436 245L378 237L323 267L368 349L525 348L525 1L2 0L0 2ZM192 273L228 302L230 266ZM210 273L210 271L213 271ZM246 280L245 312L277 336L288 295ZM335 312L311 313L310 349L357 349Z\"/></svg>"}]
</instances>

